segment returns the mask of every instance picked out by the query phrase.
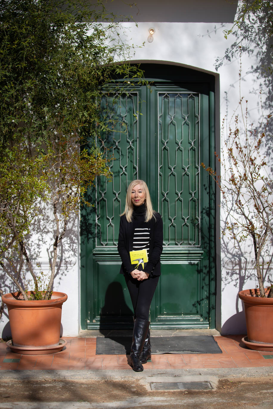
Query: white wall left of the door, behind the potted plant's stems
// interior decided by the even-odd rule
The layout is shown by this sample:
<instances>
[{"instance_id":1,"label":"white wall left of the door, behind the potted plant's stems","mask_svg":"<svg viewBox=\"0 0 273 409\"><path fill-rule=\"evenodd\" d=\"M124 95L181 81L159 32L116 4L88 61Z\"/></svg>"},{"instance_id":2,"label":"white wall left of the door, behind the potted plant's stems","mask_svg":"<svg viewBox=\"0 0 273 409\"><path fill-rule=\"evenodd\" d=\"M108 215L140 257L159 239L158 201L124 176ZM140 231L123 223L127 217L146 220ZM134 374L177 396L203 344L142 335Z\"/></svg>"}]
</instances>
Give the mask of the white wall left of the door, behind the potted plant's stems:
<instances>
[{"instance_id":1,"label":"white wall left of the door, behind the potted plant's stems","mask_svg":"<svg viewBox=\"0 0 273 409\"><path fill-rule=\"evenodd\" d=\"M43 209L43 217L39 223L34 226L35 234L32 240L29 240L29 258L32 260L32 267L36 276L42 271L49 276L49 265L52 262L53 241L52 231L54 222L52 213ZM46 234L45 234L46 232ZM42 241L43 240L43 241ZM70 223L67 226L66 234L58 247L58 260L55 270L55 279L53 290L68 294L68 299L62 306L61 335L67 337L77 336L79 334L80 322L80 267L79 267L79 218L72 215ZM61 261L61 263L60 263ZM36 265L39 263L39 266ZM59 268L59 265L61 267ZM24 282L27 283L31 275L25 272ZM1 282L6 282L2 288L4 293L18 291L17 288L8 280L7 277L1 278ZM32 290L31 284L28 286ZM0 337L11 336L8 311L5 306L0 321Z\"/></svg>"}]
</instances>

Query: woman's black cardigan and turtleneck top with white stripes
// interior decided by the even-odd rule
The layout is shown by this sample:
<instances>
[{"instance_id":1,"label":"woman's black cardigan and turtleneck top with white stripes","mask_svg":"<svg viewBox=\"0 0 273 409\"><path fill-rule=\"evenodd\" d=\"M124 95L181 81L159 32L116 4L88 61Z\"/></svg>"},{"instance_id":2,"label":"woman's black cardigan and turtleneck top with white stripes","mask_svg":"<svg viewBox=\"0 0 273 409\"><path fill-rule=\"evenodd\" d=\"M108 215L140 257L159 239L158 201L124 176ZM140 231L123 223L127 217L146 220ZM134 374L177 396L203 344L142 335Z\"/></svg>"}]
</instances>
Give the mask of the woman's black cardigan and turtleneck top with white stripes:
<instances>
[{"instance_id":1,"label":"woman's black cardigan and turtleneck top with white stripes","mask_svg":"<svg viewBox=\"0 0 273 409\"><path fill-rule=\"evenodd\" d=\"M152 217L149 222L145 222L145 205L134 206L133 210L133 222L127 222L126 216L123 215L120 218L120 234L118 239L117 249L122 259L122 266L120 269L121 274L129 274L135 269L135 266L131 264L129 252L138 246L138 241L147 242L148 263L144 267L144 271L152 276L160 275L160 254L162 253L163 244L163 223L159 213L155 213L155 217ZM140 229L139 231L137 229ZM148 230L144 230L148 229ZM149 232L149 236L143 240L137 240L135 233ZM144 237L144 236L143 236ZM148 238L149 237L149 238ZM135 238L135 239L134 239ZM142 243L145 244L145 243ZM138 248L140 249L140 248Z\"/></svg>"}]
</instances>

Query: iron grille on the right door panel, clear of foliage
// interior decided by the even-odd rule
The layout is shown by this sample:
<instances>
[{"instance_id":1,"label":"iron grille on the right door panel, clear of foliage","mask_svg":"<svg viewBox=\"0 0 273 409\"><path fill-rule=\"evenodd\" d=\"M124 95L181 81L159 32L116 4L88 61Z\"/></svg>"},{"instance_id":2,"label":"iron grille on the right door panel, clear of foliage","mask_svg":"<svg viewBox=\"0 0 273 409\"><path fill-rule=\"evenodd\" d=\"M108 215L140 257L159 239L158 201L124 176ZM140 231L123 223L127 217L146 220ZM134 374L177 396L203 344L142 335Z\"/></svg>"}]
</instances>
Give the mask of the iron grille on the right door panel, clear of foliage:
<instances>
[{"instance_id":1,"label":"iron grille on the right door panel, clear of foliage","mask_svg":"<svg viewBox=\"0 0 273 409\"><path fill-rule=\"evenodd\" d=\"M200 245L199 95L158 93L158 209L165 245Z\"/></svg>"}]
</instances>

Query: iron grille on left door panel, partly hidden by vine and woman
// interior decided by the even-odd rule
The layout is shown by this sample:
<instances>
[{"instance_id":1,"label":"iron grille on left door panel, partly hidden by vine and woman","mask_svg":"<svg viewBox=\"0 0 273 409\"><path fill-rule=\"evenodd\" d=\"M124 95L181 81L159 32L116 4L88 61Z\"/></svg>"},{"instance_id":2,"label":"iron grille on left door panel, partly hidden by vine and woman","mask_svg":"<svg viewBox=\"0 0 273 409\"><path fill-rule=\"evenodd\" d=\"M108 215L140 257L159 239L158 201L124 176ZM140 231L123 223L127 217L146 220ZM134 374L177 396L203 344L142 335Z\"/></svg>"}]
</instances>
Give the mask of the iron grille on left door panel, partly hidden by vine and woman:
<instances>
[{"instance_id":1,"label":"iron grille on left door panel, partly hidden by vine and woman","mask_svg":"<svg viewBox=\"0 0 273 409\"><path fill-rule=\"evenodd\" d=\"M138 93L102 95L102 115L108 128L97 144L113 159L113 180L98 178L96 185L96 247L117 247L120 214L126 187L138 178Z\"/></svg>"}]
</instances>

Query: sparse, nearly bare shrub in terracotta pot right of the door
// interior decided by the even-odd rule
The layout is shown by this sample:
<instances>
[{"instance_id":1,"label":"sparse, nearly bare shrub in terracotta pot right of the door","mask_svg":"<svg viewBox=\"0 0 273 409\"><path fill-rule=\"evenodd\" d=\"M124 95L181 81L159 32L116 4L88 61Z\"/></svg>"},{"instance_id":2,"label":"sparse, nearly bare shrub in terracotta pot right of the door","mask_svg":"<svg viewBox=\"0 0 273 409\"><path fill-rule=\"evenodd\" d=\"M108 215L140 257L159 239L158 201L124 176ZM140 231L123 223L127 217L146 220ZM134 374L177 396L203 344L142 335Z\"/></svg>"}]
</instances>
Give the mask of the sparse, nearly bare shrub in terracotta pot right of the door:
<instances>
[{"instance_id":1,"label":"sparse, nearly bare shrub in terracotta pot right of the door","mask_svg":"<svg viewBox=\"0 0 273 409\"><path fill-rule=\"evenodd\" d=\"M267 116L264 128L262 123L254 128L253 124L248 124L247 101L243 115L243 101L241 98L239 102L241 124L235 115L235 126L229 128L221 149L222 159L215 153L221 166L221 176L203 163L201 166L217 182L222 203L232 216L231 222L226 221L222 233L228 232L237 245L246 240L249 245L252 242L253 269L258 285L239 292L239 298L244 302L248 334L242 341L251 349L268 351L273 350L272 252L268 253L268 246L272 246L273 240L273 178L272 169L268 166L266 133L271 115ZM222 137L223 132L222 128ZM268 285L264 284L265 277Z\"/></svg>"}]
</instances>

